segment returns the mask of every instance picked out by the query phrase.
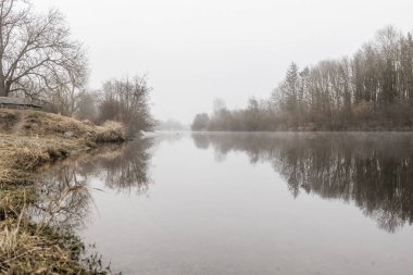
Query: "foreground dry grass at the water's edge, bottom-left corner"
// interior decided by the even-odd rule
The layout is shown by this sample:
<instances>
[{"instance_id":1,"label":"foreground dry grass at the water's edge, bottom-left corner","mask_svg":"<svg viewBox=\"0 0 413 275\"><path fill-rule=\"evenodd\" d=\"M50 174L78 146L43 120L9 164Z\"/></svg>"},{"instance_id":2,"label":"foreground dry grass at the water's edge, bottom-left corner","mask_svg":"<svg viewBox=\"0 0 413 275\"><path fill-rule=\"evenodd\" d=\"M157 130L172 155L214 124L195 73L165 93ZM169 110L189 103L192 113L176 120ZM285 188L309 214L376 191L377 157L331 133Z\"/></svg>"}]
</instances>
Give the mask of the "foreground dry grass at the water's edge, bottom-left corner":
<instances>
[{"instance_id":1,"label":"foreground dry grass at the water's edge, bottom-left corner","mask_svg":"<svg viewBox=\"0 0 413 275\"><path fill-rule=\"evenodd\" d=\"M0 274L103 274L82 263L79 238L32 222L26 205L35 200L34 189L0 195Z\"/></svg>"}]
</instances>

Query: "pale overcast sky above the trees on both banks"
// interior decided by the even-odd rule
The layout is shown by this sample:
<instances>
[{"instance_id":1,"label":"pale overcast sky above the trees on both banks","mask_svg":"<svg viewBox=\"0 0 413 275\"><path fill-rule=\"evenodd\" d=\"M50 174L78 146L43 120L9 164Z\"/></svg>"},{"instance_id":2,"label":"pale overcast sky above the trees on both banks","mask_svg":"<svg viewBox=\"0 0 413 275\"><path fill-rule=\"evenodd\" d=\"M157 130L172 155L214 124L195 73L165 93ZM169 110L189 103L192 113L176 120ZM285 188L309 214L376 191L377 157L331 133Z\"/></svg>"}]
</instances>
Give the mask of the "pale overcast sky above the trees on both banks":
<instances>
[{"instance_id":1,"label":"pale overcast sky above the trees on both banks","mask_svg":"<svg viewBox=\"0 0 413 275\"><path fill-rule=\"evenodd\" d=\"M386 25L413 29L412 0L35 0L59 8L90 58L90 88L148 74L153 114L189 123L267 97L291 61L352 54Z\"/></svg>"}]
</instances>

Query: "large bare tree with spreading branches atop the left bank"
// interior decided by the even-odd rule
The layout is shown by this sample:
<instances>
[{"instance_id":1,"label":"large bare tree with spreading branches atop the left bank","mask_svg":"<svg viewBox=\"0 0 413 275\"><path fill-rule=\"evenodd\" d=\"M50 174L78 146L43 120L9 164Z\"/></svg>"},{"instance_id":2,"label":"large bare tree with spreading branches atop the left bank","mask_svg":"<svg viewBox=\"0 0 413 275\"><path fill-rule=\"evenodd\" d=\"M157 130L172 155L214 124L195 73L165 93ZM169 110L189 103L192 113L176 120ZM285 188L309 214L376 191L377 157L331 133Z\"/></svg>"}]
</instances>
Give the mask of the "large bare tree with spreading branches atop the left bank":
<instances>
[{"instance_id":1,"label":"large bare tree with spreading branches atop the left bank","mask_svg":"<svg viewBox=\"0 0 413 275\"><path fill-rule=\"evenodd\" d=\"M83 46L58 10L38 14L29 0L0 0L0 96L73 88L86 67Z\"/></svg>"}]
</instances>

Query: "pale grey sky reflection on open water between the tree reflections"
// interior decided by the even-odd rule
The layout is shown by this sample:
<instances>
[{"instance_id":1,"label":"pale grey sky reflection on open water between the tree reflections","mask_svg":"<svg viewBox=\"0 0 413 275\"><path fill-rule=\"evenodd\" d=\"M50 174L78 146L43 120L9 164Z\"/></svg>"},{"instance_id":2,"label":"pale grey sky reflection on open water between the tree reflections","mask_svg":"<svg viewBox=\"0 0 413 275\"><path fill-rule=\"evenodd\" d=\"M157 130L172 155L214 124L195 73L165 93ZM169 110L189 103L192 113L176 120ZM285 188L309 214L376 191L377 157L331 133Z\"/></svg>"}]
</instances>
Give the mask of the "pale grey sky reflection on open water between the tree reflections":
<instances>
[{"instance_id":1,"label":"pale grey sky reflection on open water between the tree reflections","mask_svg":"<svg viewBox=\"0 0 413 275\"><path fill-rule=\"evenodd\" d=\"M91 186L82 232L125 274L409 274L413 227L377 227L352 202L291 196L271 163L216 162L189 136L159 142L147 196Z\"/></svg>"}]
</instances>

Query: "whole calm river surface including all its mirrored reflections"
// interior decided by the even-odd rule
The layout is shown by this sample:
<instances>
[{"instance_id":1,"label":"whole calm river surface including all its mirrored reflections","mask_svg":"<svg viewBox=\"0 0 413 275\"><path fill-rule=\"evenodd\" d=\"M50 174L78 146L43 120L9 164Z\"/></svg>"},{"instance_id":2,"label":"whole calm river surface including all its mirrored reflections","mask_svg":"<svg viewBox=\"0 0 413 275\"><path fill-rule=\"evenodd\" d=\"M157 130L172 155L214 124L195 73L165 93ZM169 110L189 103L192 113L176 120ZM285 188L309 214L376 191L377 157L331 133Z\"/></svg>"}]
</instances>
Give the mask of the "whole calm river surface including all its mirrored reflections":
<instances>
[{"instance_id":1,"label":"whole calm river surface including all its mirrored reflections","mask_svg":"<svg viewBox=\"0 0 413 275\"><path fill-rule=\"evenodd\" d=\"M160 135L71 180L60 222L123 274L413 274L411 134Z\"/></svg>"}]
</instances>

